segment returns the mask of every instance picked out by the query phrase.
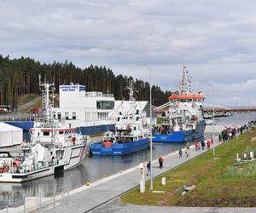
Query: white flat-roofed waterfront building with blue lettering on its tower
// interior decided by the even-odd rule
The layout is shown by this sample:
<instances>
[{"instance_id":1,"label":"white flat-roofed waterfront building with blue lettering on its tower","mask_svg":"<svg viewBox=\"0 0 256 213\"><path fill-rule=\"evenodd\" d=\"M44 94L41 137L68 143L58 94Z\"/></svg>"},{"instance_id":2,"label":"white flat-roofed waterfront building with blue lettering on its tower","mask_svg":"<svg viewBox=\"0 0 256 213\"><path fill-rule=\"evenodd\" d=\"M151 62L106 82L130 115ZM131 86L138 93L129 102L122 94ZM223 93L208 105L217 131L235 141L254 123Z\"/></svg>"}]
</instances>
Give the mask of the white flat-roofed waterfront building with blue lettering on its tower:
<instances>
[{"instance_id":1,"label":"white flat-roofed waterfront building with blue lettering on its tower","mask_svg":"<svg viewBox=\"0 0 256 213\"><path fill-rule=\"evenodd\" d=\"M54 108L54 118L66 120L83 135L114 129L115 120L108 116L114 109L113 94L87 92L84 85L73 83L60 85L59 92L60 107Z\"/></svg>"}]
</instances>

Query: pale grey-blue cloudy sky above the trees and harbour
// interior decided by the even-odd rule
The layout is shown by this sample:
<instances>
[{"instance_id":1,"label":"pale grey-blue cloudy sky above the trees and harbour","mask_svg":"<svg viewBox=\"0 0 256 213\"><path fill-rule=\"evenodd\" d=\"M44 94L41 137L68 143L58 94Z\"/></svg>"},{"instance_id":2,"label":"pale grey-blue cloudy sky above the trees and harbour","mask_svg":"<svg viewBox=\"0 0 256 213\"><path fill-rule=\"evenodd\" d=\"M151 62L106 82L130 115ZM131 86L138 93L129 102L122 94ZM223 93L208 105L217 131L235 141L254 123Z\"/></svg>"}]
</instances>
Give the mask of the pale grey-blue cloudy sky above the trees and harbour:
<instances>
[{"instance_id":1,"label":"pale grey-blue cloudy sky above the trees and harbour","mask_svg":"<svg viewBox=\"0 0 256 213\"><path fill-rule=\"evenodd\" d=\"M205 106L256 106L254 0L0 0L0 9L1 55L145 81L150 69L151 83L171 90L186 65Z\"/></svg>"}]
</instances>

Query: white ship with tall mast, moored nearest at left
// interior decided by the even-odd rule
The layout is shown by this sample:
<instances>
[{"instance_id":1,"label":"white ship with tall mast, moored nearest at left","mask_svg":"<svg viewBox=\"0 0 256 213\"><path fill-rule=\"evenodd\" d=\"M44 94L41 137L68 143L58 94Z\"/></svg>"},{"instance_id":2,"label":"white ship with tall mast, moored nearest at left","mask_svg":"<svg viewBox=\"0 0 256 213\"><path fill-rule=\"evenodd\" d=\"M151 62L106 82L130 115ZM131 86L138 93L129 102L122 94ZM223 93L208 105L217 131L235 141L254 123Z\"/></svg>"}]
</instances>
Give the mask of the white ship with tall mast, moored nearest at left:
<instances>
[{"instance_id":1,"label":"white ship with tall mast, moored nearest at left","mask_svg":"<svg viewBox=\"0 0 256 213\"><path fill-rule=\"evenodd\" d=\"M40 83L43 118L37 118L30 129L31 142L13 156L0 152L0 181L22 182L53 175L81 164L87 138L67 121L53 118L54 84ZM27 145L27 146L26 146Z\"/></svg>"}]
</instances>

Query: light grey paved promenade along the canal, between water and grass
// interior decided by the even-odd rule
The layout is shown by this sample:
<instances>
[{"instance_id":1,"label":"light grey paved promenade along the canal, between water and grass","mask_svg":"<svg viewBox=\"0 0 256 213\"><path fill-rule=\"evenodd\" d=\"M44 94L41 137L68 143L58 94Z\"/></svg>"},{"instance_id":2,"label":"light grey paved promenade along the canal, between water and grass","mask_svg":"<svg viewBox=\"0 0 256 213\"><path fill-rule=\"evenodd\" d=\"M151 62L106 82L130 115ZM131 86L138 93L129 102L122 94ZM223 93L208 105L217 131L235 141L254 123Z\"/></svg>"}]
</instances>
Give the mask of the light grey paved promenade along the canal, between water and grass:
<instances>
[{"instance_id":1,"label":"light grey paved promenade along the canal, between water and grass","mask_svg":"<svg viewBox=\"0 0 256 213\"><path fill-rule=\"evenodd\" d=\"M217 132L222 128L215 128ZM208 130L207 138L211 130ZM216 134L217 135L217 134ZM221 144L215 137L216 147ZM161 146L161 145L155 145ZM168 145L166 145L168 146ZM189 158L185 157L183 150L183 158L178 157L178 153L169 153L164 156L164 168L160 169L158 160L153 162L153 175L154 177L160 176L168 170L172 170L177 166L185 163L191 158L195 158L201 153L207 152L207 150L195 151L195 147L190 147ZM210 150L209 152L212 152ZM145 162L144 162L145 163ZM52 198L42 198L41 212L256 212L256 208L211 208L211 207L166 207L166 206L144 206L134 204L123 204L119 200L119 196L134 187L139 185L141 179L140 169L137 167L131 168L125 171L119 171L118 174L105 177L99 181L88 183L83 187L79 187L68 193L64 193L64 196L55 196L55 204L53 204ZM149 180L149 177L147 177ZM26 202L26 212L38 212L32 207L32 204L36 204L38 208L38 198L28 199ZM35 207L35 206L34 206ZM30 211L34 209L34 211ZM2 210L3 212L7 212ZM1 212L2 212L1 211ZM24 206L18 208L9 208L9 212L24 212Z\"/></svg>"}]
</instances>

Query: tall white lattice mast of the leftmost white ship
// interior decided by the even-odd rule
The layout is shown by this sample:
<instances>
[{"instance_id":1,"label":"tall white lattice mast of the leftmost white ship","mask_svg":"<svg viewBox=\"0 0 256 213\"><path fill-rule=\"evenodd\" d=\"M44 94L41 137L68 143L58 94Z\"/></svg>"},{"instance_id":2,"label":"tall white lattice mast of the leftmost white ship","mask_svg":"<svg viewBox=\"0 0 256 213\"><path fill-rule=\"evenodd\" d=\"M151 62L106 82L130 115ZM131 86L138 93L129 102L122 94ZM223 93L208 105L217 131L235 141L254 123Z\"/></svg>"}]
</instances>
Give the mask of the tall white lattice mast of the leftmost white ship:
<instances>
[{"instance_id":1,"label":"tall white lattice mast of the leftmost white ship","mask_svg":"<svg viewBox=\"0 0 256 213\"><path fill-rule=\"evenodd\" d=\"M55 84L49 83L45 80L41 82L41 76L39 75L39 89L41 90L42 94L42 106L43 106L43 114L44 114L44 124L47 126L53 125L53 118L52 118L52 108L54 107L54 91L55 91Z\"/></svg>"}]
</instances>

